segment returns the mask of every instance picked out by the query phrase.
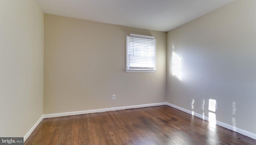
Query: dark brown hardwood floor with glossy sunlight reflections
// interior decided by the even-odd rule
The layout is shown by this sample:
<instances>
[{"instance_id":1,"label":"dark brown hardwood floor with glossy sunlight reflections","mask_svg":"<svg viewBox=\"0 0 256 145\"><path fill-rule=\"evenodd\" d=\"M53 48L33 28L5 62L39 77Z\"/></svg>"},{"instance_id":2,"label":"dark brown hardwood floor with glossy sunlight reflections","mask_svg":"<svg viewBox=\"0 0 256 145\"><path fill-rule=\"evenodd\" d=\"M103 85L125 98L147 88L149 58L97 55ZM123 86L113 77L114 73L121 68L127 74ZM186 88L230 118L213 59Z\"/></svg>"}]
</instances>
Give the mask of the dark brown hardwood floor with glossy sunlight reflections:
<instances>
[{"instance_id":1,"label":"dark brown hardwood floor with glossy sunlight reflections","mask_svg":"<svg viewBox=\"0 0 256 145\"><path fill-rule=\"evenodd\" d=\"M44 119L24 145L256 145L169 106Z\"/></svg>"}]
</instances>

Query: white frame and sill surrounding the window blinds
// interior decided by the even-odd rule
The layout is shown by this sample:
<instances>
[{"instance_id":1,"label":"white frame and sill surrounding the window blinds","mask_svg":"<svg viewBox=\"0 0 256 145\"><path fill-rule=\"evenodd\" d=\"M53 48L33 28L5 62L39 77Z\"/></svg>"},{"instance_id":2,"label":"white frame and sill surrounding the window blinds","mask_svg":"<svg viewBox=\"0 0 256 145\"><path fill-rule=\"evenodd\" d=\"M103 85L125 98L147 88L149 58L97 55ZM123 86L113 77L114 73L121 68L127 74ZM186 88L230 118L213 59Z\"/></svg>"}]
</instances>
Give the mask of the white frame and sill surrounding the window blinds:
<instances>
[{"instance_id":1,"label":"white frame and sill surrounding the window blinds","mask_svg":"<svg viewBox=\"0 0 256 145\"><path fill-rule=\"evenodd\" d=\"M130 59L129 59L129 53L130 53L130 43L129 39L130 37L141 37L146 39L154 39L154 69L129 69L130 68ZM132 34L126 35L126 72L156 72L156 38L154 36L147 36L147 35L138 35L138 34Z\"/></svg>"}]
</instances>

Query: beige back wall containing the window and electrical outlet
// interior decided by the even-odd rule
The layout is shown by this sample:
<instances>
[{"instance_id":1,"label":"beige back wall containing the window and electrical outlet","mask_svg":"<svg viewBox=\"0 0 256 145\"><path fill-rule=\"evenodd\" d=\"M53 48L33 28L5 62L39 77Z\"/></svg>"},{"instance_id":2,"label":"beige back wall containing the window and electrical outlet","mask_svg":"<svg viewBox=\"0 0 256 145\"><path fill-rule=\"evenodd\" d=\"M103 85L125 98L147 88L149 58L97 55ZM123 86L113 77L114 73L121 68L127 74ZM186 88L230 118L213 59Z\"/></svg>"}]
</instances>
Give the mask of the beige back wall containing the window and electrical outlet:
<instances>
[{"instance_id":1,"label":"beige back wall containing the window and electrical outlet","mask_svg":"<svg viewBox=\"0 0 256 145\"><path fill-rule=\"evenodd\" d=\"M156 73L125 72L129 33L156 37ZM166 32L44 14L44 114L158 102L166 102Z\"/></svg>"}]
</instances>

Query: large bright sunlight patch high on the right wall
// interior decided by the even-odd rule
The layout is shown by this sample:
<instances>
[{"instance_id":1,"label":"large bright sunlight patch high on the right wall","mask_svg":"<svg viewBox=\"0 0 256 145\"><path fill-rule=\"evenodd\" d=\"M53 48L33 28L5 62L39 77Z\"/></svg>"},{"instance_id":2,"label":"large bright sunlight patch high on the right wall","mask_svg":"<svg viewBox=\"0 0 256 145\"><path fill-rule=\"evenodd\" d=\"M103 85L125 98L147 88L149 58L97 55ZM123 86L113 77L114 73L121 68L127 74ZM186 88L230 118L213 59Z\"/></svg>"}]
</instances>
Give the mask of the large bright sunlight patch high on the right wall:
<instances>
[{"instance_id":1,"label":"large bright sunlight patch high on the right wall","mask_svg":"<svg viewBox=\"0 0 256 145\"><path fill-rule=\"evenodd\" d=\"M172 52L172 76L177 76L178 79L182 79L182 57L177 53Z\"/></svg>"}]
</instances>

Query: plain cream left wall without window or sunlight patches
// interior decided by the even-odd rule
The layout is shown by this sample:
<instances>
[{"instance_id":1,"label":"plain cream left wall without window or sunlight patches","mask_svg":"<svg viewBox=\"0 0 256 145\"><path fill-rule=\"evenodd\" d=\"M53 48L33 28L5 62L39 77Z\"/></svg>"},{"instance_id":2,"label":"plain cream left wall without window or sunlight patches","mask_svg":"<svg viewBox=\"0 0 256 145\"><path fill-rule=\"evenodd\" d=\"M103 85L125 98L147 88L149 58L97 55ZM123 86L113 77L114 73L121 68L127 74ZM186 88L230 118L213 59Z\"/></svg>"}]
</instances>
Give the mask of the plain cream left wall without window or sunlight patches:
<instances>
[{"instance_id":1,"label":"plain cream left wall without window or sunlight patches","mask_svg":"<svg viewBox=\"0 0 256 145\"><path fill-rule=\"evenodd\" d=\"M43 19L35 0L0 0L0 137L24 137L43 114Z\"/></svg>"}]
</instances>

